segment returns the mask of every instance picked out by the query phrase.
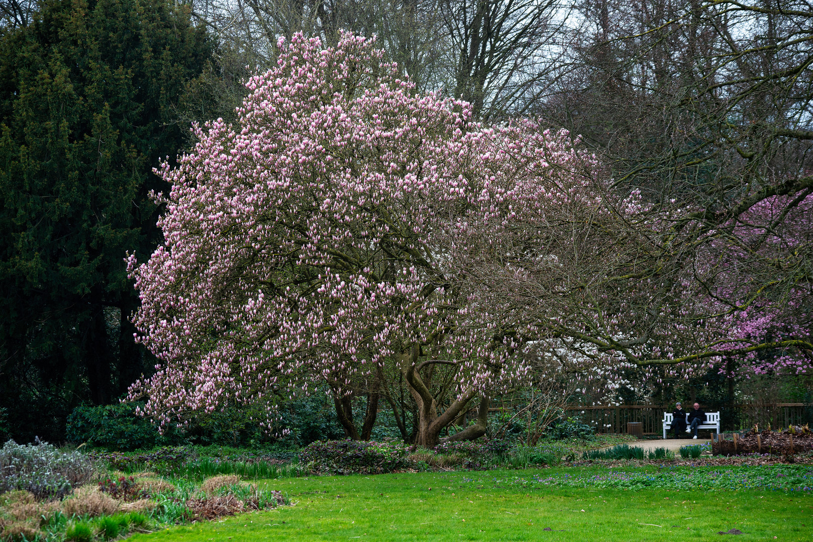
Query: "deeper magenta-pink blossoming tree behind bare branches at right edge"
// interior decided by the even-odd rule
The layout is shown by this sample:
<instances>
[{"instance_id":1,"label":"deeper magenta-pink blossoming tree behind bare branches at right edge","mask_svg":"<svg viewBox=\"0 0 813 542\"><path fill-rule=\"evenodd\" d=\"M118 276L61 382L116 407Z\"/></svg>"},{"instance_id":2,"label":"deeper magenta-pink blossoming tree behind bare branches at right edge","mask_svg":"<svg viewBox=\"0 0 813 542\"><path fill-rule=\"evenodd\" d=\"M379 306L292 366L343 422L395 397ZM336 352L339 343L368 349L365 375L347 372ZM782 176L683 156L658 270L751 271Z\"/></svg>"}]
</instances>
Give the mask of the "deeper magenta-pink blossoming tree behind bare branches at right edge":
<instances>
[{"instance_id":1,"label":"deeper magenta-pink blossoming tree behind bare branches at right edge","mask_svg":"<svg viewBox=\"0 0 813 542\"><path fill-rule=\"evenodd\" d=\"M720 349L741 350L760 343L780 345L742 354L746 373L813 372L813 195L760 199L736 219L706 254L719 262L702 275L707 297L730 324ZM711 272L710 272L711 271ZM725 302L723 302L725 301ZM722 370L721 370L722 371Z\"/></svg>"}]
</instances>

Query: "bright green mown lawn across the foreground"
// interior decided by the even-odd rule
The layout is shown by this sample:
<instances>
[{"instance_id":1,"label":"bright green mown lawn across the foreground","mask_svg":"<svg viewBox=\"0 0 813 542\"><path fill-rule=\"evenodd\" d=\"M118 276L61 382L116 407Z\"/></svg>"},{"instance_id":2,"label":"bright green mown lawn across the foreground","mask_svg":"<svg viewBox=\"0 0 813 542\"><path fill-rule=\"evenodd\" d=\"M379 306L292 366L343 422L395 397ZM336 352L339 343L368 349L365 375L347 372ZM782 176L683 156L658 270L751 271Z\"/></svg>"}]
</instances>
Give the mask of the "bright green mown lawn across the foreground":
<instances>
[{"instance_id":1,"label":"bright green mown lawn across the foreground","mask_svg":"<svg viewBox=\"0 0 813 542\"><path fill-rule=\"evenodd\" d=\"M810 491L523 488L515 481L534 473L568 469L270 480L293 506L129 540L720 540L717 532L731 528L745 533L740 541L813 540Z\"/></svg>"}]
</instances>

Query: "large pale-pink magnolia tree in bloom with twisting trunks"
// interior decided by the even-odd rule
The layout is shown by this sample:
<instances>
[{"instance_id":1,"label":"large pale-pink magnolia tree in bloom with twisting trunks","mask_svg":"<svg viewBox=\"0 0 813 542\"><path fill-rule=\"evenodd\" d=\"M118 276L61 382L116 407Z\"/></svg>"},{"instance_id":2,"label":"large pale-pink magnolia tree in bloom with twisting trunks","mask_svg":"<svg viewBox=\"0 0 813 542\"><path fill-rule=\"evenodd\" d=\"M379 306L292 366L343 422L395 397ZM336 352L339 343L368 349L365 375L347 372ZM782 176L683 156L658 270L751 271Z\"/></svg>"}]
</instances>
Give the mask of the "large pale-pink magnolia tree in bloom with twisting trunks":
<instances>
[{"instance_id":1,"label":"large pale-pink magnolia tree in bloom with twisting trunks","mask_svg":"<svg viewBox=\"0 0 813 542\"><path fill-rule=\"evenodd\" d=\"M361 37L280 48L237 124L198 129L193 152L163 166L165 244L128 262L137 340L160 363L130 397L146 394L162 423L265 401L270 429L278 397L327 386L347 434L367 438L374 401L360 432L348 401L390 363L418 405L417 444L478 398L479 423L452 438L482 435L489 397L528 366L455 260L479 249L472 224L507 223L517 198L588 198L597 164L565 133L484 128L467 103L417 95ZM444 404L436 368L454 392Z\"/></svg>"}]
</instances>

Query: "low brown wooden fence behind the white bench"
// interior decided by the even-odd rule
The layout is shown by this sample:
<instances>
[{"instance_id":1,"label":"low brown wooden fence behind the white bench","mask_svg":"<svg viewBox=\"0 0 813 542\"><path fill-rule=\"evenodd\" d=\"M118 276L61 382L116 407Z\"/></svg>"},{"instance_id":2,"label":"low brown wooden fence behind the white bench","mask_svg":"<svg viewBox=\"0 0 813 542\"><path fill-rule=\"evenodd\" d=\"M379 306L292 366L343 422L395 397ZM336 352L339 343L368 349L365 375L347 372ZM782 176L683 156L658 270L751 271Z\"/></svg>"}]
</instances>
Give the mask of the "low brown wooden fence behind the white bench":
<instances>
[{"instance_id":1,"label":"low brown wooden fence behind the white bench","mask_svg":"<svg viewBox=\"0 0 813 542\"><path fill-rule=\"evenodd\" d=\"M663 413L672 412L675 405L618 405L565 407L565 415L580 418L599 433L625 433L628 422L642 424L644 433L660 433ZM776 403L767 405L701 405L706 412L720 410L722 428L727 431L760 427L788 427L811 422L811 406L804 403ZM687 409L689 410L689 409Z\"/></svg>"}]
</instances>

